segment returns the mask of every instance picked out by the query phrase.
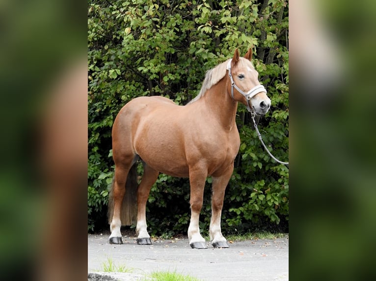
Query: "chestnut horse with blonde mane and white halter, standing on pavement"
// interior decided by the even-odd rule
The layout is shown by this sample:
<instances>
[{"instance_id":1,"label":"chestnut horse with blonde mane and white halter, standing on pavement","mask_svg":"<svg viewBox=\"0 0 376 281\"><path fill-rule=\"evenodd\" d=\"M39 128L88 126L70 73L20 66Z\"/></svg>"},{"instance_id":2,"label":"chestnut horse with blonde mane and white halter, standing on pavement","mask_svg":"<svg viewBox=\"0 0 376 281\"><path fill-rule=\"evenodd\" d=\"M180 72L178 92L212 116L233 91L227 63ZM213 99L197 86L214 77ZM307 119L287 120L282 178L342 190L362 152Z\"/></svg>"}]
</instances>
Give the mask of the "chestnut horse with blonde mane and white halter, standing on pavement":
<instances>
[{"instance_id":1,"label":"chestnut horse with blonde mane and white halter, standing on pavement","mask_svg":"<svg viewBox=\"0 0 376 281\"><path fill-rule=\"evenodd\" d=\"M120 227L136 219L137 244L150 245L146 202L159 173L188 177L190 185L191 248L207 248L199 230L205 181L212 176L211 244L228 248L221 233L221 212L226 186L240 147L235 123L238 102L256 115L270 108L267 91L251 63L252 50L220 63L205 75L199 94L181 106L162 96L141 96L128 102L112 127L114 180L109 194L109 243L122 244ZM227 75L226 75L227 74ZM136 162L144 172L137 187Z\"/></svg>"}]
</instances>

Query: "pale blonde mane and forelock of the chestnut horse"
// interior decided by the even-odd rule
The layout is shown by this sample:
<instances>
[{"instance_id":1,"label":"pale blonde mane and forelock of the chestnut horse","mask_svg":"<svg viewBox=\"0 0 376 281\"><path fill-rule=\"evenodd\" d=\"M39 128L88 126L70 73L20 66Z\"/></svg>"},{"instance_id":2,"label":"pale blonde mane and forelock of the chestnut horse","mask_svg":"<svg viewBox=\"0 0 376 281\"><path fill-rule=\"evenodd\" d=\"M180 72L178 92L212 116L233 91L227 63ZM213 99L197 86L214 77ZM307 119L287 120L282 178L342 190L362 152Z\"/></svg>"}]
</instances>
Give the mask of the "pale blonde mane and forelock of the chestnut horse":
<instances>
[{"instance_id":1,"label":"pale blonde mane and forelock of the chestnut horse","mask_svg":"<svg viewBox=\"0 0 376 281\"><path fill-rule=\"evenodd\" d=\"M193 103L203 97L210 88L212 88L216 83L218 83L227 73L227 63L230 59L227 61L217 65L214 69L208 70L205 73L205 79L202 82L202 87L200 90L200 93L193 98L189 103ZM248 62L248 63L247 63ZM245 59L245 58L239 58L238 67L245 68L245 67L251 67L254 69L252 63ZM189 104L188 103L188 104Z\"/></svg>"}]
</instances>

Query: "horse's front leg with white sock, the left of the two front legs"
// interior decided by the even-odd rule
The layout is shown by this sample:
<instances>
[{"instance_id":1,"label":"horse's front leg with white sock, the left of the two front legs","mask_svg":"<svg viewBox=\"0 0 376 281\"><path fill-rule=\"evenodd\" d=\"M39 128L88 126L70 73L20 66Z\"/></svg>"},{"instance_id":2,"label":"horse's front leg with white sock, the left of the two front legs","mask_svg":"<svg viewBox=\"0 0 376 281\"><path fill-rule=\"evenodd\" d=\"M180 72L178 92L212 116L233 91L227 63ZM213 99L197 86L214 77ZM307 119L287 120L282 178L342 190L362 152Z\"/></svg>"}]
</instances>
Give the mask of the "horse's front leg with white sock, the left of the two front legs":
<instances>
[{"instance_id":1,"label":"horse's front leg with white sock, the left of the two front legs","mask_svg":"<svg viewBox=\"0 0 376 281\"><path fill-rule=\"evenodd\" d=\"M190 247L194 249L206 249L205 239L200 234L199 218L202 208L204 187L207 169L202 167L189 168L190 183L190 223L188 227L188 239Z\"/></svg>"}]
</instances>

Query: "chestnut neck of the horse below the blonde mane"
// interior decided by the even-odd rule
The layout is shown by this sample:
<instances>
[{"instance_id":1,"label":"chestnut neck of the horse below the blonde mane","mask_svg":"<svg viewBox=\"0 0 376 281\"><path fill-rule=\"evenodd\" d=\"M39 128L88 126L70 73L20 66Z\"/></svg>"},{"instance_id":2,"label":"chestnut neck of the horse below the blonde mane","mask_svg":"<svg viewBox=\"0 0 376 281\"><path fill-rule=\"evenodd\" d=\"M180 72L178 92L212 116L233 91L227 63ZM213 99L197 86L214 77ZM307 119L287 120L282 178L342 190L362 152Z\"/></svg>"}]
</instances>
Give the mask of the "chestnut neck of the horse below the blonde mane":
<instances>
[{"instance_id":1,"label":"chestnut neck of the horse below the blonde mane","mask_svg":"<svg viewBox=\"0 0 376 281\"><path fill-rule=\"evenodd\" d=\"M203 96L208 113L215 117L224 129L231 130L235 126L238 102L227 93L226 79L222 79Z\"/></svg>"}]
</instances>

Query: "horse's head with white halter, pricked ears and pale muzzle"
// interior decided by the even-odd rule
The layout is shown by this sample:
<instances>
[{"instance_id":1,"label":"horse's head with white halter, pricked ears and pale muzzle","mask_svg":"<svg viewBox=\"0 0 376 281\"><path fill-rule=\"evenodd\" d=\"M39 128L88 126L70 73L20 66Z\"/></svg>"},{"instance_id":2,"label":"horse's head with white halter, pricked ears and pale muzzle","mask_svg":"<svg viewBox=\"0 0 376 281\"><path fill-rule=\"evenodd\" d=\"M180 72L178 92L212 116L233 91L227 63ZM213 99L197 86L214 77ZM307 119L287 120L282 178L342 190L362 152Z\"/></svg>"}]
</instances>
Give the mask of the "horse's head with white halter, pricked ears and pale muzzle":
<instances>
[{"instance_id":1,"label":"horse's head with white halter, pricked ears and pale muzzle","mask_svg":"<svg viewBox=\"0 0 376 281\"><path fill-rule=\"evenodd\" d=\"M257 115L265 115L270 108L267 91L258 80L259 73L251 64L252 50L249 49L244 58L239 56L238 49L227 65L231 85L229 93L236 101L242 102L248 111Z\"/></svg>"}]
</instances>

